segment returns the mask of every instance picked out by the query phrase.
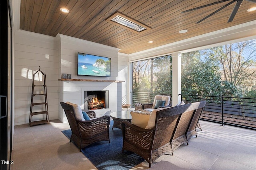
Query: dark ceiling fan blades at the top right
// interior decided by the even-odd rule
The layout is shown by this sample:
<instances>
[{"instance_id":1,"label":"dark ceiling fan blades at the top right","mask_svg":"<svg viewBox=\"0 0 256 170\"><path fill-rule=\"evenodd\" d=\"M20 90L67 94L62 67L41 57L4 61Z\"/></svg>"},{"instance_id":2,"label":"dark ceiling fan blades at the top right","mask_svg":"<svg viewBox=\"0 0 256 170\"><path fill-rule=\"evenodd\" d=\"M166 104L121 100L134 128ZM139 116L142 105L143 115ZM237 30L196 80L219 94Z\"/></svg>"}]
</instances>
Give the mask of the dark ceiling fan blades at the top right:
<instances>
[{"instance_id":1,"label":"dark ceiling fan blades at the top right","mask_svg":"<svg viewBox=\"0 0 256 170\"><path fill-rule=\"evenodd\" d=\"M211 4L207 4L207 5L199 6L199 7L196 7L196 8L192 8L190 10L182 11L181 13L190 12L190 11L193 11L193 10L197 10L197 9L200 9L200 8L204 8L204 7L207 7L207 6L219 4L219 3L222 3L222 2L226 2L226 1L230 1L230 0L221 0L221 1L218 1L218 2L211 3ZM256 3L256 0L247 0L247 1ZM230 15L230 17L228 19L228 22L232 22L234 17L235 17L235 15L236 15L236 12L238 11L239 7L241 6L243 0L232 0L228 4L222 6L218 10L212 12L212 14L209 14L208 16L204 17L202 20L198 21L197 23L200 23L200 22L204 21L206 18L209 18L213 14L216 14L217 12L219 12L220 10L222 10L222 9L226 8L227 6L233 4L234 2L236 2L236 5L234 6L234 9L233 9L233 11L232 11L232 13L231 13L231 15Z\"/></svg>"}]
</instances>

